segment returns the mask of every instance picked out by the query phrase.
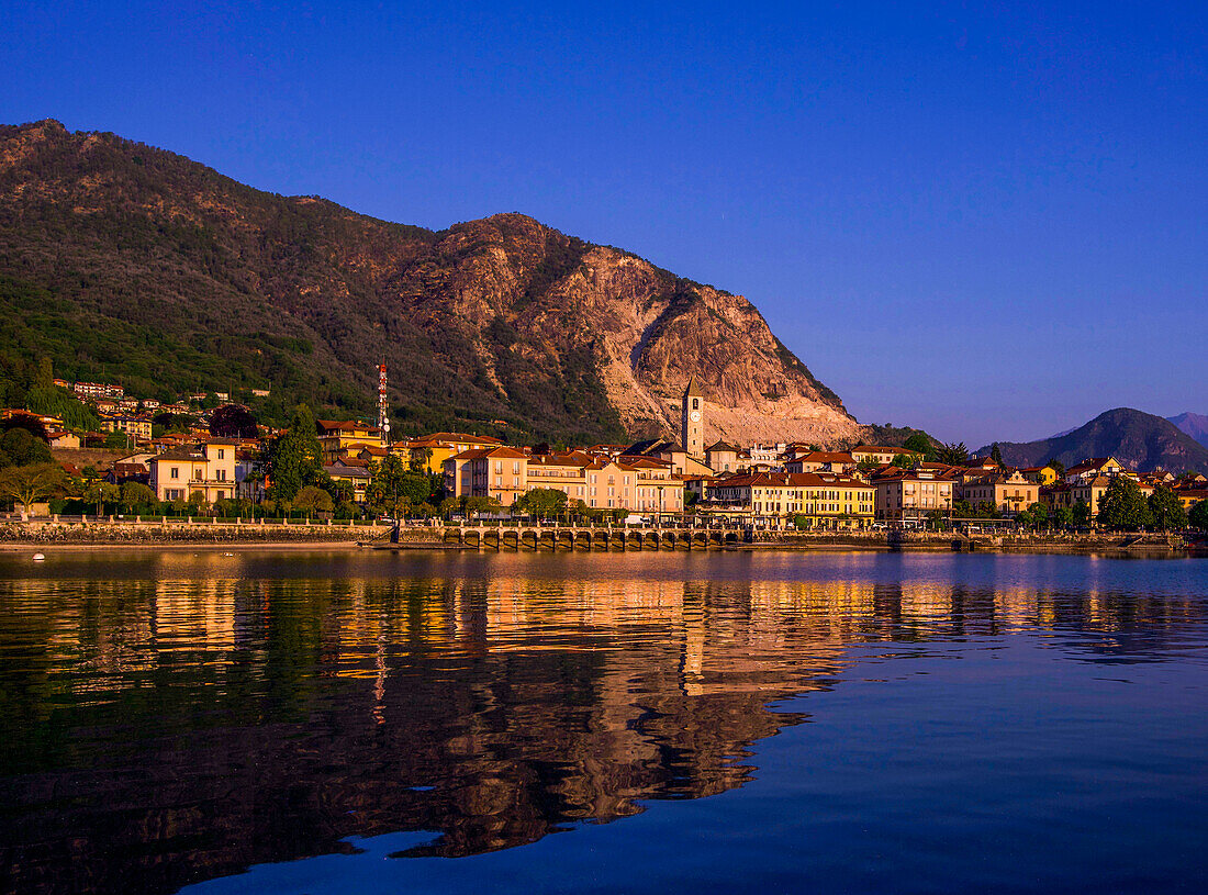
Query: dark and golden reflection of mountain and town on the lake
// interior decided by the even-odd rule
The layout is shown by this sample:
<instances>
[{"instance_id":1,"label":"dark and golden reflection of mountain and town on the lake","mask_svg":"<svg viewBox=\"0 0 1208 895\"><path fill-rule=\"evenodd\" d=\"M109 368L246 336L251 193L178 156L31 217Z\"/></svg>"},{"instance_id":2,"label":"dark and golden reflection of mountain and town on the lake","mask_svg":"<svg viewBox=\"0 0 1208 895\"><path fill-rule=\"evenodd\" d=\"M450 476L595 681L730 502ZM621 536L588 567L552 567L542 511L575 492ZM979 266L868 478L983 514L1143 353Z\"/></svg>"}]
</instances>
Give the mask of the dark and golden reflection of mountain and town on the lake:
<instances>
[{"instance_id":1,"label":"dark and golden reflection of mountain and town on the lake","mask_svg":"<svg viewBox=\"0 0 1208 895\"><path fill-rule=\"evenodd\" d=\"M853 644L1018 626L1121 644L1190 611L853 581L163 571L2 593L37 610L0 629L21 656L0 672L14 890L167 891L395 830L439 833L407 854L518 845L742 785L750 744L803 719L768 703L830 686Z\"/></svg>"}]
</instances>

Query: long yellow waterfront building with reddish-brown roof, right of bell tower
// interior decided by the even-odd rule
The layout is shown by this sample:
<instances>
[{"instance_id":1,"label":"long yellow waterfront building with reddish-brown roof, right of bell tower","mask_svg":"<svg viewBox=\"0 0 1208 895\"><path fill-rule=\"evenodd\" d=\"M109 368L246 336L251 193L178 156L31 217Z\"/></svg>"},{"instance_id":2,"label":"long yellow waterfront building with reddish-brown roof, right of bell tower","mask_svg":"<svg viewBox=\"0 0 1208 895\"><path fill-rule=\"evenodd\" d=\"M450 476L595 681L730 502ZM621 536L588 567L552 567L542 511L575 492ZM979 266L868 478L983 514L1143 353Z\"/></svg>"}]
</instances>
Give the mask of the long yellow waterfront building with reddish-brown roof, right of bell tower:
<instances>
[{"instance_id":1,"label":"long yellow waterfront building with reddish-brown roof, right of bell tower","mask_svg":"<svg viewBox=\"0 0 1208 895\"><path fill-rule=\"evenodd\" d=\"M876 512L876 488L831 472L749 472L704 488L710 516L768 528L864 528Z\"/></svg>"}]
</instances>

